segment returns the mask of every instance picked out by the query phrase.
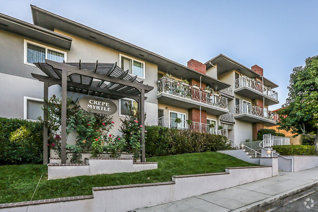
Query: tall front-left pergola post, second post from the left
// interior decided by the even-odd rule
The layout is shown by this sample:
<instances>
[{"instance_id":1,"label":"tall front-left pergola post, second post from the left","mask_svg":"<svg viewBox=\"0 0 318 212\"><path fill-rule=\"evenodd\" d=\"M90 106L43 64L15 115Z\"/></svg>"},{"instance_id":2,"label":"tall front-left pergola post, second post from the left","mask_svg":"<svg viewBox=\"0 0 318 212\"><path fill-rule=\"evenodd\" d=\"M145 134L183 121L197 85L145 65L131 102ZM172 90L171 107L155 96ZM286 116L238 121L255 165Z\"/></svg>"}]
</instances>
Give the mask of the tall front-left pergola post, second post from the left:
<instances>
[{"instance_id":1,"label":"tall front-left pergola post, second post from the left","mask_svg":"<svg viewBox=\"0 0 318 212\"><path fill-rule=\"evenodd\" d=\"M67 108L67 83L68 83L68 71L62 70L62 114L61 114L61 159L62 164L66 164L66 108Z\"/></svg>"}]
</instances>

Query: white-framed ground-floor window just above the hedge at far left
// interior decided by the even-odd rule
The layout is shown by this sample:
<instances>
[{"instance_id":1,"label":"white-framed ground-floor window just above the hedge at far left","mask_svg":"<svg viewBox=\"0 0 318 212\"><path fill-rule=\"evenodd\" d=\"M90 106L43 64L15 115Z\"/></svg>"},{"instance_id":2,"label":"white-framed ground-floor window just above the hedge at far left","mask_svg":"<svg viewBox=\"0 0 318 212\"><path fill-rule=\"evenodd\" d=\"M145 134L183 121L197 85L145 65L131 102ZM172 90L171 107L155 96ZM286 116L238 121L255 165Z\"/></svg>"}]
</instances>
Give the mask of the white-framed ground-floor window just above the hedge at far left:
<instances>
[{"instance_id":1,"label":"white-framed ground-floor window just above the hedge at far left","mask_svg":"<svg viewBox=\"0 0 318 212\"><path fill-rule=\"evenodd\" d=\"M37 121L38 117L43 118L43 99L24 96L23 118L30 121Z\"/></svg>"}]
</instances>

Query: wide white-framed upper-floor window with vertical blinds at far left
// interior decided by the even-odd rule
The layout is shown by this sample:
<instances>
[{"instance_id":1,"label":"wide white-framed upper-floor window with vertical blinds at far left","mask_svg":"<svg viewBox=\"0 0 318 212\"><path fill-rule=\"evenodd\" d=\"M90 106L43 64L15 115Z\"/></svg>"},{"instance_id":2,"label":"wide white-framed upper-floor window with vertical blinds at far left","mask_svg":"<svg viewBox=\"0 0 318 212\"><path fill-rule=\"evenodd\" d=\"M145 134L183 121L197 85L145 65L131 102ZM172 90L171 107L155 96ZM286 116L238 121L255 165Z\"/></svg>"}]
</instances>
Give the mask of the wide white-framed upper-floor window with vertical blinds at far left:
<instances>
[{"instance_id":1,"label":"wide white-framed upper-floor window with vertical blinds at far left","mask_svg":"<svg viewBox=\"0 0 318 212\"><path fill-rule=\"evenodd\" d=\"M45 63L45 59L63 63L67 61L67 53L59 49L48 47L36 42L24 40L24 64Z\"/></svg>"}]
</instances>

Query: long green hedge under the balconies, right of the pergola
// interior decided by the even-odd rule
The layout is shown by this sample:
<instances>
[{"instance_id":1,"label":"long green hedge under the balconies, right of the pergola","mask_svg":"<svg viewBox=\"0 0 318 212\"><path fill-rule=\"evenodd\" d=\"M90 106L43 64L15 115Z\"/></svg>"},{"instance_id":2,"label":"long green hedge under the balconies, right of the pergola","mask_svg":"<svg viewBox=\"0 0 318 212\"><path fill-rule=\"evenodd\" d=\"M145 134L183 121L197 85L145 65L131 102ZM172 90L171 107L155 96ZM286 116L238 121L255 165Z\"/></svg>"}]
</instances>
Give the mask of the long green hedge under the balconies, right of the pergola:
<instances>
[{"instance_id":1,"label":"long green hedge under the balconies, right of the pergola","mask_svg":"<svg viewBox=\"0 0 318 212\"><path fill-rule=\"evenodd\" d=\"M146 130L146 157L231 148L227 137L222 135L159 126L146 126Z\"/></svg>"}]
</instances>

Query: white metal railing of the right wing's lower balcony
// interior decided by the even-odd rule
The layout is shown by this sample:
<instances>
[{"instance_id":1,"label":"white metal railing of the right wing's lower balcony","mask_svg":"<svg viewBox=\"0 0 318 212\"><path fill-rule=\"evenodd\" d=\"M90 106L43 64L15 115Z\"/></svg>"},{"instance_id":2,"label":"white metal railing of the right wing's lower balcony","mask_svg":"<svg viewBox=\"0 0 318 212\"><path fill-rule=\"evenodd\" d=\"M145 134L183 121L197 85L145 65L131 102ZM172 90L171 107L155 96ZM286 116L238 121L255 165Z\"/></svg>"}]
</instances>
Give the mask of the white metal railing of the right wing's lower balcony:
<instances>
[{"instance_id":1,"label":"white metal railing of the right wing's lower balcony","mask_svg":"<svg viewBox=\"0 0 318 212\"><path fill-rule=\"evenodd\" d=\"M235 114L250 114L261 118L266 118L269 120L277 121L278 114L268 111L257 106L251 106L250 104L243 103L241 105L235 106Z\"/></svg>"}]
</instances>

